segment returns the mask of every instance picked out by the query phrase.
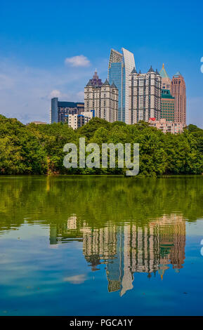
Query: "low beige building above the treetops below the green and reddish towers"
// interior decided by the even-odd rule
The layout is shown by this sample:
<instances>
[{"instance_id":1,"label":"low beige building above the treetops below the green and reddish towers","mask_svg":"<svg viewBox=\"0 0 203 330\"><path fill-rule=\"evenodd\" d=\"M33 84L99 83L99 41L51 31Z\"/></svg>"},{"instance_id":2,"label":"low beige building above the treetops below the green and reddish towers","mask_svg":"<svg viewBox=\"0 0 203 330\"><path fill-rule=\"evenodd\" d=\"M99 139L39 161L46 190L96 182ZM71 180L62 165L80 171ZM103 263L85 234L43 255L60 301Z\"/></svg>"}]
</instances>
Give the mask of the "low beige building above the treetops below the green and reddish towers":
<instances>
[{"instance_id":1,"label":"low beige building above the treetops below the green and reddish towers","mask_svg":"<svg viewBox=\"0 0 203 330\"><path fill-rule=\"evenodd\" d=\"M183 132L183 123L177 123L172 121L166 121L166 119L160 119L157 121L155 118L149 119L149 124L151 127L156 127L160 129L163 133L181 133Z\"/></svg>"}]
</instances>

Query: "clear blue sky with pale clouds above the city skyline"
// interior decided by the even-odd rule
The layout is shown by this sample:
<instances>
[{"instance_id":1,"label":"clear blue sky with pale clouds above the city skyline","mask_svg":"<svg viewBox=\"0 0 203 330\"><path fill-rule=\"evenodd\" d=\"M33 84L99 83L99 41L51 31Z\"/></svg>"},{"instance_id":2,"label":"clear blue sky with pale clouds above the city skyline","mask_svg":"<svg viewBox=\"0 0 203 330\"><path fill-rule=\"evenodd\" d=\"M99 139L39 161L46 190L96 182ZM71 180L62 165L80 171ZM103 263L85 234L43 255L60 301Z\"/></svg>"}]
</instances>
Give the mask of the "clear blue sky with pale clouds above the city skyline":
<instances>
[{"instance_id":1,"label":"clear blue sky with pale clouds above the city skyline","mask_svg":"<svg viewBox=\"0 0 203 330\"><path fill-rule=\"evenodd\" d=\"M95 68L107 77L110 48L124 47L141 72L164 62L183 74L188 124L203 128L202 41L200 1L1 1L0 113L48 121L51 96L83 100Z\"/></svg>"}]
</instances>

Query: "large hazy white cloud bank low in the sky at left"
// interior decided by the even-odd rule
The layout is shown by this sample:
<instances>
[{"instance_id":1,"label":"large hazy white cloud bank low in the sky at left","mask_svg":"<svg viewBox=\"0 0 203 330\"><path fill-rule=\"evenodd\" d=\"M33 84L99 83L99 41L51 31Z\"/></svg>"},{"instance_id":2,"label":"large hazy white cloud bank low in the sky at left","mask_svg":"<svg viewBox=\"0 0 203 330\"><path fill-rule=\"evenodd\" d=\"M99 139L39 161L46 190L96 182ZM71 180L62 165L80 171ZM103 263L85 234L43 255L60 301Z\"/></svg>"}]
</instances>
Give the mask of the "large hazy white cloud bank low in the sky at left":
<instances>
[{"instance_id":1,"label":"large hazy white cloud bank low in the sky at left","mask_svg":"<svg viewBox=\"0 0 203 330\"><path fill-rule=\"evenodd\" d=\"M44 70L0 58L0 114L23 124L49 122L51 98L82 102L82 90L91 76L91 70L82 67Z\"/></svg>"}]
</instances>

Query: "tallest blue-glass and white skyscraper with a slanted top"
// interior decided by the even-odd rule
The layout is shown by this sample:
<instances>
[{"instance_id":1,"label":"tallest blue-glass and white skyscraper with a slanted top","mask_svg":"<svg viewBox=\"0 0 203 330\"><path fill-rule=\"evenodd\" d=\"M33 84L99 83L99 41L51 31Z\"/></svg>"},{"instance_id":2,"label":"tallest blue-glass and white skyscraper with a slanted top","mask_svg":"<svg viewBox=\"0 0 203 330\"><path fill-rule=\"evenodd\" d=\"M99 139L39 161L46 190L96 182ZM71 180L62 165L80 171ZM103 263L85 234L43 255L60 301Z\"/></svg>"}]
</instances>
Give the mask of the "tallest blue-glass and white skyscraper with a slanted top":
<instances>
[{"instance_id":1,"label":"tallest blue-glass and white skyscraper with a slanted top","mask_svg":"<svg viewBox=\"0 0 203 330\"><path fill-rule=\"evenodd\" d=\"M122 53L110 52L108 67L108 80L115 84L119 90L118 120L130 124L129 115L129 75L135 67L134 55L122 48Z\"/></svg>"}]
</instances>

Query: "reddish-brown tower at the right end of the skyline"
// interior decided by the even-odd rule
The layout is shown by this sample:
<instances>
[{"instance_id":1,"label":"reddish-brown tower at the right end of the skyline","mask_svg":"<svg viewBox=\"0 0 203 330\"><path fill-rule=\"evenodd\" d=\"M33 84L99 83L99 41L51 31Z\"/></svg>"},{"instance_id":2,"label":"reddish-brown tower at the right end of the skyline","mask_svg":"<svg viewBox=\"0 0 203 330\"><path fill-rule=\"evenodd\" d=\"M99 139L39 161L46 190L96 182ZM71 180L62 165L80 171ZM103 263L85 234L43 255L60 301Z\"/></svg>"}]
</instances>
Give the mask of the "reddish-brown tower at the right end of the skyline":
<instances>
[{"instance_id":1,"label":"reddish-brown tower at the right end of the skyline","mask_svg":"<svg viewBox=\"0 0 203 330\"><path fill-rule=\"evenodd\" d=\"M178 123L186 126L186 88L185 80L180 72L174 74L171 81L171 94L175 98L175 116Z\"/></svg>"}]
</instances>

